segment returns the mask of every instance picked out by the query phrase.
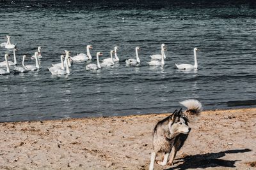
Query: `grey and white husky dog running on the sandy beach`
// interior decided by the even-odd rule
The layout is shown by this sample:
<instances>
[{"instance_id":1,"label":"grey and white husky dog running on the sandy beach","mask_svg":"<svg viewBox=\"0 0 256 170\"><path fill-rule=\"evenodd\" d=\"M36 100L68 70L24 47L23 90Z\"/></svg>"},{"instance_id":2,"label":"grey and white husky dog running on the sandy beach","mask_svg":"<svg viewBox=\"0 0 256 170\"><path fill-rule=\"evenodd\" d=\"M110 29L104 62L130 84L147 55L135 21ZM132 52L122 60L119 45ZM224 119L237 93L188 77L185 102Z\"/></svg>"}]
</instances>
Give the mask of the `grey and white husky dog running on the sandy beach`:
<instances>
[{"instance_id":1,"label":"grey and white husky dog running on the sandy beach","mask_svg":"<svg viewBox=\"0 0 256 170\"><path fill-rule=\"evenodd\" d=\"M165 166L171 151L172 154L168 164L173 164L176 153L184 145L184 142L188 138L188 134L191 130L188 126L188 117L198 116L202 109L202 104L195 99L182 101L180 104L188 109L184 112L182 112L182 109L179 111L175 110L172 115L159 121L153 130L154 151L151 153L150 170L154 169L154 162L158 152L163 152L164 158L163 162L157 161L157 164Z\"/></svg>"}]
</instances>

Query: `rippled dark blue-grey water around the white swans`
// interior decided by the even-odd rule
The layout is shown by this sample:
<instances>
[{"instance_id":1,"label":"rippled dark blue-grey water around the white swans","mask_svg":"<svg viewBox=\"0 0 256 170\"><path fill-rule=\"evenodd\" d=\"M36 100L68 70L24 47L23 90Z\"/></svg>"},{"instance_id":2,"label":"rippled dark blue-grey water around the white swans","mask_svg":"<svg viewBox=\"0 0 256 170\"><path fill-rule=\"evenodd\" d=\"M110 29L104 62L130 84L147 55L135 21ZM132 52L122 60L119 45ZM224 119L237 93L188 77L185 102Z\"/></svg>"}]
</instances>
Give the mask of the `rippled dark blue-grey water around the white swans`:
<instances>
[{"instance_id":1,"label":"rippled dark blue-grey water around the white swans","mask_svg":"<svg viewBox=\"0 0 256 170\"><path fill-rule=\"evenodd\" d=\"M0 3L0 42L12 36L19 64L37 46L43 56L38 72L0 76L0 122L164 113L191 98L206 110L256 106L253 1L125 2ZM168 46L166 66L149 67L161 43ZM76 55L86 45L93 46L94 63L96 52L109 57L119 46L119 65L86 71L86 63L74 64L69 76L47 70L63 50ZM141 65L127 67L136 46ZM193 64L194 47L200 48L198 71L177 70L174 63ZM0 48L1 60L4 53Z\"/></svg>"}]
</instances>

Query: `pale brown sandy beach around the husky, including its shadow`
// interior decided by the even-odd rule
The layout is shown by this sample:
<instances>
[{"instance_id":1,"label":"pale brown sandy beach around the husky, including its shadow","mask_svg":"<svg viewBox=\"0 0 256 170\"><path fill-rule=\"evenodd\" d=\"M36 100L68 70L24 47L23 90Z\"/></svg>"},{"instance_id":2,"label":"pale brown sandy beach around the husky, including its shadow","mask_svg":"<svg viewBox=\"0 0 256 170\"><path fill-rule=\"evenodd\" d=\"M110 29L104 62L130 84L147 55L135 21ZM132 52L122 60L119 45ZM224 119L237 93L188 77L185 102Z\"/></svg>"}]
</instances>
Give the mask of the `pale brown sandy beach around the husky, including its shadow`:
<instances>
[{"instance_id":1,"label":"pale brown sandy beach around the husky, including its shadow","mask_svg":"<svg viewBox=\"0 0 256 170\"><path fill-rule=\"evenodd\" d=\"M1 123L0 169L148 169L166 116ZM256 169L256 109L204 111L190 126L174 165L156 169Z\"/></svg>"}]
</instances>

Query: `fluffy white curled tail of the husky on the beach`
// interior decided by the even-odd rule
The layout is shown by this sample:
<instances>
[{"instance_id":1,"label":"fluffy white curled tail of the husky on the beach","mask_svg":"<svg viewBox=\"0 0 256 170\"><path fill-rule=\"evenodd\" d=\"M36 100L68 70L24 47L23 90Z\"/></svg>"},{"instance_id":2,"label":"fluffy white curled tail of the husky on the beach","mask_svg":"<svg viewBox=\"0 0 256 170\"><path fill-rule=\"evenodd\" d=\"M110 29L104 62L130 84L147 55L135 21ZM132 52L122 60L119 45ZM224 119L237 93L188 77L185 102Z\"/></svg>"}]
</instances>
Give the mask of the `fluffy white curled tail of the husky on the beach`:
<instances>
[{"instance_id":1,"label":"fluffy white curled tail of the husky on the beach","mask_svg":"<svg viewBox=\"0 0 256 170\"><path fill-rule=\"evenodd\" d=\"M202 104L195 99L188 99L180 102L180 104L187 108L187 110L184 112L186 112L188 115L199 115L202 111Z\"/></svg>"}]
</instances>

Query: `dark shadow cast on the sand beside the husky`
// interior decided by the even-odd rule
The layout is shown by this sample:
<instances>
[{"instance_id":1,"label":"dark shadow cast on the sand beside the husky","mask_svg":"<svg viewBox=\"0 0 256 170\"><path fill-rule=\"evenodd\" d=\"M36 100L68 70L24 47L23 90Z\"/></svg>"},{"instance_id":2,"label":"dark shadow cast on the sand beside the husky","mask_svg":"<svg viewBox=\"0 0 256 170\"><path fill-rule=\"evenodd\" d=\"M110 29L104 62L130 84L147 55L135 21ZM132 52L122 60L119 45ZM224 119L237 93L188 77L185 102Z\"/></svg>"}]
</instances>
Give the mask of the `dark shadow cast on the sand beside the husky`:
<instances>
[{"instance_id":1,"label":"dark shadow cast on the sand beside the husky","mask_svg":"<svg viewBox=\"0 0 256 170\"><path fill-rule=\"evenodd\" d=\"M241 160L223 160L218 159L224 157L226 153L244 153L250 152L250 149L243 149L243 150L226 150L223 152L217 153L205 153L205 154L197 154L197 155L187 155L183 158L176 159L174 162L174 166L171 169L196 169L196 168L207 168L207 167L236 167L236 161ZM181 163L182 164L179 164ZM179 164L175 166L175 164Z\"/></svg>"}]
</instances>

